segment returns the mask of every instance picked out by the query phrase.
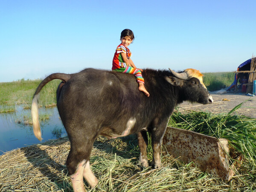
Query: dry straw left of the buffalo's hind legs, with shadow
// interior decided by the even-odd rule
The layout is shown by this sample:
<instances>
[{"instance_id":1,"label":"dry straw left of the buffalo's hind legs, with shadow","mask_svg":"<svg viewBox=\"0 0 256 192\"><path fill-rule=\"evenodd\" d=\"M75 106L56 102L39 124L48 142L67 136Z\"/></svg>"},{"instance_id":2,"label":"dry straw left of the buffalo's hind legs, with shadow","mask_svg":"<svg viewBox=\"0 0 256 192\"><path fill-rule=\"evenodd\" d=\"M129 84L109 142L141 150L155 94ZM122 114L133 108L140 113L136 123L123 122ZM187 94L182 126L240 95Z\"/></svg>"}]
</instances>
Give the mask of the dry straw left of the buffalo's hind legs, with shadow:
<instances>
[{"instance_id":1,"label":"dry straw left of the buffalo's hind legs, with shadow","mask_svg":"<svg viewBox=\"0 0 256 192\"><path fill-rule=\"evenodd\" d=\"M65 159L67 138L31 145L0 156L0 191L62 191L72 189ZM61 187L58 183L62 183Z\"/></svg>"}]
</instances>

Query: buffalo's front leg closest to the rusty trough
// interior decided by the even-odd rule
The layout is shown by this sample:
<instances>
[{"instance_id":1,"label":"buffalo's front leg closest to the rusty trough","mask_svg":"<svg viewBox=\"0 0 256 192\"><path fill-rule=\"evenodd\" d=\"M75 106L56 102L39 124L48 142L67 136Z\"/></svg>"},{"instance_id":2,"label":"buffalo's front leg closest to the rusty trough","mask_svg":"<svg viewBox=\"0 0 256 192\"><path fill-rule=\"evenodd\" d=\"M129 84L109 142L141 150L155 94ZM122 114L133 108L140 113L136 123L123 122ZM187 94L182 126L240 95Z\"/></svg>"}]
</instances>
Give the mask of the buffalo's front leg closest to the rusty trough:
<instances>
[{"instance_id":1,"label":"buffalo's front leg closest to the rusty trough","mask_svg":"<svg viewBox=\"0 0 256 192\"><path fill-rule=\"evenodd\" d=\"M160 168L161 164L161 157L160 157L160 149L162 145L163 135L166 131L166 123L161 126L157 126L157 128L153 128L151 133L151 140L152 140L152 148L153 148L153 160L151 162L151 166L153 168Z\"/></svg>"}]
</instances>

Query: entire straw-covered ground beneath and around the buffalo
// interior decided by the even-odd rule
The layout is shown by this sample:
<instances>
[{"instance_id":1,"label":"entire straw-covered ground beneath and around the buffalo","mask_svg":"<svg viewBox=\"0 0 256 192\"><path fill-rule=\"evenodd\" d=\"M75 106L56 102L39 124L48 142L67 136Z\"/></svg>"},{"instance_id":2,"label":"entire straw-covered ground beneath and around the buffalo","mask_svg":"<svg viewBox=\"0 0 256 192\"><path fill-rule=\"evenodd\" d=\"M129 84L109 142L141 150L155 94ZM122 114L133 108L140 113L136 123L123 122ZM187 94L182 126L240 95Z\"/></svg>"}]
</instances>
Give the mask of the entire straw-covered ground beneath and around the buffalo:
<instances>
[{"instance_id":1,"label":"entire straw-covered ground beneath and around the buffalo","mask_svg":"<svg viewBox=\"0 0 256 192\"><path fill-rule=\"evenodd\" d=\"M0 156L0 191L73 191L67 175L65 160L70 150L67 138L9 151ZM255 175L246 168L229 182L207 175L193 163L182 164L179 160L162 154L160 169L137 166L139 157L136 137L115 140L99 137L90 156L91 169L99 179L95 189L87 191L253 191ZM148 157L152 151L149 147ZM254 178L253 178L254 177Z\"/></svg>"}]
</instances>

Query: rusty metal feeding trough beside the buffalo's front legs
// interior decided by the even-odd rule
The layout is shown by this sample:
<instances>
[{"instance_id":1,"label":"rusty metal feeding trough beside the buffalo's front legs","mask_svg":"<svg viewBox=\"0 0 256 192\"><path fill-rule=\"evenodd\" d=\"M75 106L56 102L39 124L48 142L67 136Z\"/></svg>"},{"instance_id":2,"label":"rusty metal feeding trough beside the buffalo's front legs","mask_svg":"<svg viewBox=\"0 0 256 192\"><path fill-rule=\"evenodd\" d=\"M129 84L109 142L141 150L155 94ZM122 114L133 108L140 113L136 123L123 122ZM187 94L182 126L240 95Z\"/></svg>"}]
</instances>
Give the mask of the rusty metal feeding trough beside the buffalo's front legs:
<instances>
[{"instance_id":1,"label":"rusty metal feeding trough beside the buffalo's front legs","mask_svg":"<svg viewBox=\"0 0 256 192\"><path fill-rule=\"evenodd\" d=\"M163 148L184 163L194 162L203 172L224 180L230 180L235 169L241 165L242 157L230 165L228 140L179 128L167 127L163 137Z\"/></svg>"}]
</instances>

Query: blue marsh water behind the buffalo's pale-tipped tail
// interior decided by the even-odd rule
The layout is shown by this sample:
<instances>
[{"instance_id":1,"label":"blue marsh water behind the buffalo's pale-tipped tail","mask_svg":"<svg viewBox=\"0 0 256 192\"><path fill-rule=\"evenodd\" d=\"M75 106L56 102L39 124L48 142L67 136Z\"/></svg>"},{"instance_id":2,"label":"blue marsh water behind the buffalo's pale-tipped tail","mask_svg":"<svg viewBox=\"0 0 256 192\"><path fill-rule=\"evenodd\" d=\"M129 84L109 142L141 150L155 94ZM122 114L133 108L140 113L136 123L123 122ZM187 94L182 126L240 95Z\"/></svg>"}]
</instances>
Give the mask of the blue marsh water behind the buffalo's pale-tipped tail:
<instances>
[{"instance_id":1,"label":"blue marsh water behind the buffalo's pale-tipped tail","mask_svg":"<svg viewBox=\"0 0 256 192\"><path fill-rule=\"evenodd\" d=\"M40 122L42 142L67 136L56 107L39 108L40 114L49 116L49 119ZM34 136L32 125L24 123L24 117L30 116L30 109L25 110L22 106L18 106L13 113L0 113L0 155L15 148L41 143Z\"/></svg>"}]
</instances>

